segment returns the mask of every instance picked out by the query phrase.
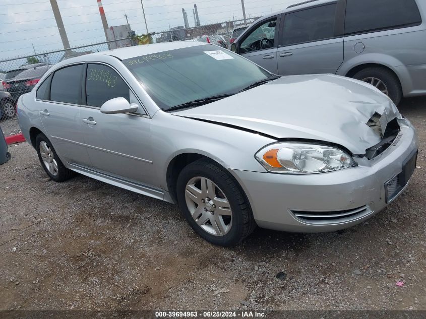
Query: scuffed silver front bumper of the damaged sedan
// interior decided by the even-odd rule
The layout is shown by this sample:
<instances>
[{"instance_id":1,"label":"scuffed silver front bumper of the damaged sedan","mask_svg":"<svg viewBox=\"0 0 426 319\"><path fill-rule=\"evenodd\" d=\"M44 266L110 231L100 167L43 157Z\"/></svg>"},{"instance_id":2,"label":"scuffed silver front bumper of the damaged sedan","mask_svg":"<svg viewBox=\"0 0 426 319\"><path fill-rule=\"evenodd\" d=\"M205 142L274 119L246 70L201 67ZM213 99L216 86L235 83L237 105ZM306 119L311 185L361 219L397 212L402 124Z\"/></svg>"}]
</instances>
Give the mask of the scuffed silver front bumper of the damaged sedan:
<instances>
[{"instance_id":1,"label":"scuffed silver front bumper of the damaged sedan","mask_svg":"<svg viewBox=\"0 0 426 319\"><path fill-rule=\"evenodd\" d=\"M260 227L290 232L335 231L356 225L388 205L385 182L401 173L404 161L417 150L413 127L402 126L401 133L396 145L373 160L358 158L357 167L340 171L310 175L230 172L245 190ZM344 215L350 210L355 214L315 223L296 216L312 212Z\"/></svg>"}]
</instances>

